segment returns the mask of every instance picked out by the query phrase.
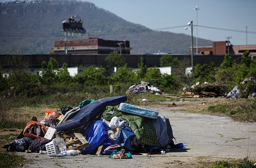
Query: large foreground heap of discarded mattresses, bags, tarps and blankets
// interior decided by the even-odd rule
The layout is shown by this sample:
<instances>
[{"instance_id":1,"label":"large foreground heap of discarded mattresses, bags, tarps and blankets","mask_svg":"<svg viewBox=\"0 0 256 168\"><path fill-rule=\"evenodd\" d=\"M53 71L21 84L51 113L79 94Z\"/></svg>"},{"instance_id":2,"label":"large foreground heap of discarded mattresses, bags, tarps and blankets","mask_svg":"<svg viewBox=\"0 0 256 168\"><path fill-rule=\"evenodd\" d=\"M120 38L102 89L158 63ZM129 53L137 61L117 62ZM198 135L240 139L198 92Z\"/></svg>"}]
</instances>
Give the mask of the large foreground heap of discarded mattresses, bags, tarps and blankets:
<instances>
[{"instance_id":1,"label":"large foreground heap of discarded mattresses, bags, tarps and blankets","mask_svg":"<svg viewBox=\"0 0 256 168\"><path fill-rule=\"evenodd\" d=\"M118 159L185 148L183 143L174 144L168 118L125 101L124 95L87 99L78 107L46 109L44 120L39 122L34 116L3 148L48 156L92 154Z\"/></svg>"}]
</instances>

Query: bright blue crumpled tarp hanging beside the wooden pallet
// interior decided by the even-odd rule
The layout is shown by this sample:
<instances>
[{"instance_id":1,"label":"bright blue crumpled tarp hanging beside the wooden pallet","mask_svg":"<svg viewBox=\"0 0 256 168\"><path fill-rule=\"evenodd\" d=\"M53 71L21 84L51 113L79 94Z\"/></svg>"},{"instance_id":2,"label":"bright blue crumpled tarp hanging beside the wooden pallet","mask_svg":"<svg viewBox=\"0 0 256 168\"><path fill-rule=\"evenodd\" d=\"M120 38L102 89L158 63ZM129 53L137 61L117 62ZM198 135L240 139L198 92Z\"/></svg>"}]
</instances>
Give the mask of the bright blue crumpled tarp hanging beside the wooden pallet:
<instances>
[{"instance_id":1,"label":"bright blue crumpled tarp hanging beside the wooden pallet","mask_svg":"<svg viewBox=\"0 0 256 168\"><path fill-rule=\"evenodd\" d=\"M101 145L114 145L114 141L108 138L107 129L111 129L101 120L93 121L84 131L83 136L89 142L89 147L84 148L81 154L90 154Z\"/></svg>"}]
</instances>

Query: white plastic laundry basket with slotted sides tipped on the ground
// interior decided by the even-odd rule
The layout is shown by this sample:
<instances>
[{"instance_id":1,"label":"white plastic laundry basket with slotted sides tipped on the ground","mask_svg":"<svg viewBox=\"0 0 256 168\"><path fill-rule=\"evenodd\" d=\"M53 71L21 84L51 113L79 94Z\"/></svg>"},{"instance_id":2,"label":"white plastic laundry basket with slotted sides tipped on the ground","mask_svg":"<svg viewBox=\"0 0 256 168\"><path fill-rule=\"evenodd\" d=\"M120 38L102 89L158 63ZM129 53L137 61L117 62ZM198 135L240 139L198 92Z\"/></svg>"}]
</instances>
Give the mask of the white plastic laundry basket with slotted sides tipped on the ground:
<instances>
[{"instance_id":1,"label":"white plastic laundry basket with slotted sides tipped on the ground","mask_svg":"<svg viewBox=\"0 0 256 168\"><path fill-rule=\"evenodd\" d=\"M67 146L63 138L54 138L45 145L48 156L67 155Z\"/></svg>"}]
</instances>

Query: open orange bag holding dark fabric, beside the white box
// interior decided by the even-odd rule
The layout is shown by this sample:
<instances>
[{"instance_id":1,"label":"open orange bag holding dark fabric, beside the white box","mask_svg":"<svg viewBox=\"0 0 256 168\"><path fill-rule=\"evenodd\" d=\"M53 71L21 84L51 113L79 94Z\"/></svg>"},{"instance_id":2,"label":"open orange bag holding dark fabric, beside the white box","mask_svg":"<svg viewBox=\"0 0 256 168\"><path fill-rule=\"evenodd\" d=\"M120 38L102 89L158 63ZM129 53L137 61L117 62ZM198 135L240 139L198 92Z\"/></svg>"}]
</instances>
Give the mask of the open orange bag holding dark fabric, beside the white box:
<instances>
[{"instance_id":1,"label":"open orange bag holding dark fabric, beside the white box","mask_svg":"<svg viewBox=\"0 0 256 168\"><path fill-rule=\"evenodd\" d=\"M44 124L37 121L30 121L23 130L24 137L29 137L32 139L44 138L47 128Z\"/></svg>"}]
</instances>

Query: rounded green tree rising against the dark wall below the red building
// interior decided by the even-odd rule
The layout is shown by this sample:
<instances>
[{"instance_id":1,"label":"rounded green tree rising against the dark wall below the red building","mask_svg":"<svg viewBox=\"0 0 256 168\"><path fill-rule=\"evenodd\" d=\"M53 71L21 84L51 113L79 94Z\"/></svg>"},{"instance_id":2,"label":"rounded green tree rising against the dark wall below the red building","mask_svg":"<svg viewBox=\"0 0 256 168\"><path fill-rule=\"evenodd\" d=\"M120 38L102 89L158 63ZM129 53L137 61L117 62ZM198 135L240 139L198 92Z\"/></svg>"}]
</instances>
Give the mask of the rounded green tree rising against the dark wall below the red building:
<instances>
[{"instance_id":1,"label":"rounded green tree rising against the dark wall below the red building","mask_svg":"<svg viewBox=\"0 0 256 168\"><path fill-rule=\"evenodd\" d=\"M110 52L106 56L105 61L108 62L107 67L122 67L125 64L125 58L117 51Z\"/></svg>"}]
</instances>

